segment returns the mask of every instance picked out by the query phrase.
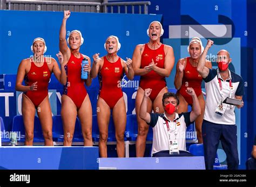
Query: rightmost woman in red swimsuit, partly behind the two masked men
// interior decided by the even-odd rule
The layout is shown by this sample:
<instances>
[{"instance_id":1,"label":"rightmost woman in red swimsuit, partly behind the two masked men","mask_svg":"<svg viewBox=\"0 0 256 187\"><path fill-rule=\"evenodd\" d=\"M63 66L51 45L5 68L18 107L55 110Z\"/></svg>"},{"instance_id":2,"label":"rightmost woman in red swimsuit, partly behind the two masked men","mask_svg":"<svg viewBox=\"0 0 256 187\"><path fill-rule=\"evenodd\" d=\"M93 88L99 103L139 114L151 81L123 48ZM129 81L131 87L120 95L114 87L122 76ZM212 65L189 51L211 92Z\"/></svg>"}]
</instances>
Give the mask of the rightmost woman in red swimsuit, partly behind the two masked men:
<instances>
[{"instance_id":1,"label":"rightmost woman in red swimsuit, partly behind the two masked men","mask_svg":"<svg viewBox=\"0 0 256 187\"><path fill-rule=\"evenodd\" d=\"M187 51L190 54L190 57L185 57L184 59L179 59L176 66L176 75L174 79L174 85L176 87L177 96L179 97L180 104L178 113L187 112L187 106L192 106L192 97L186 93L187 87L191 87L196 92L200 106L201 106L201 115L195 120L198 143L203 143L201 126L204 118L205 111L205 100L203 93L201 91L201 82L203 78L197 72L197 64L200 55L204 51L204 47L199 38L194 37L190 41L190 45L187 47ZM212 68L212 63L206 61L206 67Z\"/></svg>"}]
</instances>

